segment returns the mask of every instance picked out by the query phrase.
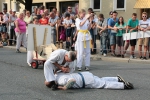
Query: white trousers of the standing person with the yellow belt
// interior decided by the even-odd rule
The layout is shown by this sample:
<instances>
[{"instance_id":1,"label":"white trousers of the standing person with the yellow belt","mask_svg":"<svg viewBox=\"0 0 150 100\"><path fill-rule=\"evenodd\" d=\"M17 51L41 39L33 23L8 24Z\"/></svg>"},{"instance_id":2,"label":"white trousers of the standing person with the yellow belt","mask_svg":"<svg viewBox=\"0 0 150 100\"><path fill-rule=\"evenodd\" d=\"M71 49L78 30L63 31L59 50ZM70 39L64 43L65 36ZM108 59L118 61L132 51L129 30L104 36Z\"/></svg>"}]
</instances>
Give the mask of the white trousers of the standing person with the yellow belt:
<instances>
[{"instance_id":1,"label":"white trousers of the standing person with the yellow belt","mask_svg":"<svg viewBox=\"0 0 150 100\"><path fill-rule=\"evenodd\" d=\"M86 48L84 48L84 42L83 41L77 41L76 42L76 50L77 50L77 67L82 67L83 62L83 55L84 57L84 65L86 67L90 67L90 41L86 41Z\"/></svg>"}]
</instances>

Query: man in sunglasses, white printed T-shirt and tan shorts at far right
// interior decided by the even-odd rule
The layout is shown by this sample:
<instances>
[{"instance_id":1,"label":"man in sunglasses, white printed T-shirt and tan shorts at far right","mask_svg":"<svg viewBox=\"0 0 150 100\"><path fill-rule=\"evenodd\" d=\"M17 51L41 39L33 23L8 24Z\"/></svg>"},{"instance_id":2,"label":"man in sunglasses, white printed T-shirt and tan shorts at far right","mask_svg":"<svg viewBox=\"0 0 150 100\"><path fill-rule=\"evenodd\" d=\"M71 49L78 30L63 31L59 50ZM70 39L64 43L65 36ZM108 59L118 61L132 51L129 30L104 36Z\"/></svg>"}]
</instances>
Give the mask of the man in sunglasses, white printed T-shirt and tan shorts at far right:
<instances>
[{"instance_id":1,"label":"man in sunglasses, white printed T-shirt and tan shorts at far right","mask_svg":"<svg viewBox=\"0 0 150 100\"><path fill-rule=\"evenodd\" d=\"M145 32L148 30L149 27L150 27L150 21L147 19L147 13L143 12L142 13L142 20L139 21L138 29L140 31L143 31L145 34ZM144 36L144 34L143 34L143 36ZM144 43L144 57L142 57L142 44L143 43ZM142 38L138 39L140 59L147 60L146 53L148 50L148 43L149 43L148 37L147 38L142 37Z\"/></svg>"}]
</instances>

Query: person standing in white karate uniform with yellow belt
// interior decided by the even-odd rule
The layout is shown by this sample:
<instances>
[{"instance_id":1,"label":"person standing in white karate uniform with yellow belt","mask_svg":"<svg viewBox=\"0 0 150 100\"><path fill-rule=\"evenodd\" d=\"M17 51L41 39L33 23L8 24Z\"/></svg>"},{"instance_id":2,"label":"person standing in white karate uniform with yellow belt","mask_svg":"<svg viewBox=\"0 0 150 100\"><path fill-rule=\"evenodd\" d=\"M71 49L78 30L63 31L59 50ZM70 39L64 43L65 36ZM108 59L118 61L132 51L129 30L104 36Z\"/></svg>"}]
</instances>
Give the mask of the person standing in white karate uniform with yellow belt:
<instances>
[{"instance_id":1,"label":"person standing in white karate uniform with yellow belt","mask_svg":"<svg viewBox=\"0 0 150 100\"><path fill-rule=\"evenodd\" d=\"M91 29L92 20L88 20L91 16L90 14L86 15L86 11L81 9L79 11L79 17L76 19L76 27L78 30L77 34L77 67L78 71L81 71L83 54L85 55L85 70L89 70L90 66L90 44L91 44L91 35L89 30Z\"/></svg>"}]
</instances>

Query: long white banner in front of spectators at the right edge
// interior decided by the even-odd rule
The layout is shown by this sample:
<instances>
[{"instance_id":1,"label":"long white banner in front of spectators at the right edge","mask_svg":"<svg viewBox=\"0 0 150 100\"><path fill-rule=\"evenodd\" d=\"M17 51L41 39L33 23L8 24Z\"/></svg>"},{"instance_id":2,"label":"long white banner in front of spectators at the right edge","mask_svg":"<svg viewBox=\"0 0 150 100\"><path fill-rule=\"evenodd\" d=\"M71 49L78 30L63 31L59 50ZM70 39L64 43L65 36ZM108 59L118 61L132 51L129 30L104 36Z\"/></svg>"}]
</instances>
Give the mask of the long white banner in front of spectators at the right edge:
<instances>
[{"instance_id":1,"label":"long white banner in front of spectators at the right edge","mask_svg":"<svg viewBox=\"0 0 150 100\"><path fill-rule=\"evenodd\" d=\"M133 39L146 38L146 37L150 37L150 31L146 31L146 32L138 31L138 32L123 34L123 40L133 40Z\"/></svg>"}]
</instances>

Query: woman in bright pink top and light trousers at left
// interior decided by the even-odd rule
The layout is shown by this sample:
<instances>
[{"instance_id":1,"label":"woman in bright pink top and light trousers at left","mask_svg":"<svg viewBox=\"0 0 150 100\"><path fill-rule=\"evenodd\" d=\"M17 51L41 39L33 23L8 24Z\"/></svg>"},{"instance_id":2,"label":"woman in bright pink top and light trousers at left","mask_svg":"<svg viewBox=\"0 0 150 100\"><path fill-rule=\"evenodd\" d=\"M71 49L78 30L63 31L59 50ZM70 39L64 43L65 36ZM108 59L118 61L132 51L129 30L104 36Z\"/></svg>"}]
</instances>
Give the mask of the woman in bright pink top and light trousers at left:
<instances>
[{"instance_id":1,"label":"woman in bright pink top and light trousers at left","mask_svg":"<svg viewBox=\"0 0 150 100\"><path fill-rule=\"evenodd\" d=\"M18 19L15 21L15 32L17 36L17 45L16 45L16 52L20 52L20 45L21 42L23 46L27 49L27 41L26 41L26 22L23 19L23 13L20 13Z\"/></svg>"}]
</instances>

